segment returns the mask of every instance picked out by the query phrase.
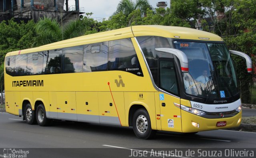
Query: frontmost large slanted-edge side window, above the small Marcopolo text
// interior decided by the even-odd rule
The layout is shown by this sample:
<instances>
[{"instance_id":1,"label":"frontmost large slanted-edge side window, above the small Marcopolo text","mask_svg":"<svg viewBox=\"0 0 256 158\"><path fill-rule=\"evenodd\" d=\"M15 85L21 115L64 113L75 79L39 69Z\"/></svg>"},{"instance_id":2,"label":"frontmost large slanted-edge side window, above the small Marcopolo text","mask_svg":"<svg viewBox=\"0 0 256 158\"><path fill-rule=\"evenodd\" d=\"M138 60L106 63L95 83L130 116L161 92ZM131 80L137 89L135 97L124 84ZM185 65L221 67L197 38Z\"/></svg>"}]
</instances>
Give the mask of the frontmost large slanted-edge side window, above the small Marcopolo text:
<instances>
[{"instance_id":1,"label":"frontmost large slanted-edge side window, above the small Marcopolo text","mask_svg":"<svg viewBox=\"0 0 256 158\"><path fill-rule=\"evenodd\" d=\"M138 58L130 38L109 42L108 69L139 67Z\"/></svg>"}]
</instances>

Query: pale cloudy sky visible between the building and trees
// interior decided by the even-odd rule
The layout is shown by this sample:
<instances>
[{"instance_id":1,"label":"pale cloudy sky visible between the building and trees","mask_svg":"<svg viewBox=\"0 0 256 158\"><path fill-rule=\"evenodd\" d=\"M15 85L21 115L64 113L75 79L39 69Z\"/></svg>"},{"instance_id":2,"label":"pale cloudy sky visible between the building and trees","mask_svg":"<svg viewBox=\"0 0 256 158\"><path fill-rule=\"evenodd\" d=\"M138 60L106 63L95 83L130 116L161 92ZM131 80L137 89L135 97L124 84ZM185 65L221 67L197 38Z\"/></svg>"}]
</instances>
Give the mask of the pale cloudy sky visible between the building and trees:
<instances>
[{"instance_id":1,"label":"pale cloudy sky visible between the building and trees","mask_svg":"<svg viewBox=\"0 0 256 158\"><path fill-rule=\"evenodd\" d=\"M96 20L100 20L100 18L106 18L110 17L115 11L118 3L121 0L79 0L79 7L84 8L84 12L92 12L93 18ZM133 0L135 2L135 0ZM170 0L148 0L150 5L152 5L153 8L156 8L157 2L166 2L168 6L170 7ZM74 5L75 0L68 0L68 5Z\"/></svg>"}]
</instances>

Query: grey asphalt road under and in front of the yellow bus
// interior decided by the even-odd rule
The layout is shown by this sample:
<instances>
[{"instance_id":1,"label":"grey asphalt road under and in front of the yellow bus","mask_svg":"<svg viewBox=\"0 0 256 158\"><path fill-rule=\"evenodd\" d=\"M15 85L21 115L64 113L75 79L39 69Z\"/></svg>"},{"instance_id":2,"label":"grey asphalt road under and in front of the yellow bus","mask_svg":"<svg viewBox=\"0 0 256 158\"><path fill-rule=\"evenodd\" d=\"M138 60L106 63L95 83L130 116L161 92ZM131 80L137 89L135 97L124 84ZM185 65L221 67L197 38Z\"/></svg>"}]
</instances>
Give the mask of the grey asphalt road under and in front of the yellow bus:
<instances>
[{"instance_id":1,"label":"grey asphalt road under and in front of the yellow bus","mask_svg":"<svg viewBox=\"0 0 256 158\"><path fill-rule=\"evenodd\" d=\"M30 150L27 157L34 157L33 154L36 154L38 158L100 156L119 158L129 157L131 150L127 149L136 148L151 151L152 148L158 150L160 148L254 148L255 150L256 147L256 133L252 132L214 130L199 132L193 136L158 132L153 140L140 140L136 138L132 128L64 121L41 127L28 125L21 119L18 116L0 113L0 148ZM2 151L0 150L0 157L3 157ZM256 150L254 152L255 155ZM184 154L182 156L185 157Z\"/></svg>"}]
</instances>

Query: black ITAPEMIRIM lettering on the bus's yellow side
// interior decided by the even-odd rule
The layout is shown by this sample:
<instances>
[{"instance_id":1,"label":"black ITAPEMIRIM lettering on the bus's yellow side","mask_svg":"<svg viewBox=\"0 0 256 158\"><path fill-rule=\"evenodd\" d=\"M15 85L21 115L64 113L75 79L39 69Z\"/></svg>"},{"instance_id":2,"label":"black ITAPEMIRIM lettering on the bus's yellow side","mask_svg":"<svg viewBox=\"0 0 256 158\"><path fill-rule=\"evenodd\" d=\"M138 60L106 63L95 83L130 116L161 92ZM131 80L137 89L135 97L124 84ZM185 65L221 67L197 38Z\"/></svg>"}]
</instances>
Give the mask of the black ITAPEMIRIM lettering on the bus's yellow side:
<instances>
[{"instance_id":1,"label":"black ITAPEMIRIM lettering on the bus's yellow side","mask_svg":"<svg viewBox=\"0 0 256 158\"><path fill-rule=\"evenodd\" d=\"M12 81L13 87L43 87L44 80L22 80Z\"/></svg>"}]
</instances>

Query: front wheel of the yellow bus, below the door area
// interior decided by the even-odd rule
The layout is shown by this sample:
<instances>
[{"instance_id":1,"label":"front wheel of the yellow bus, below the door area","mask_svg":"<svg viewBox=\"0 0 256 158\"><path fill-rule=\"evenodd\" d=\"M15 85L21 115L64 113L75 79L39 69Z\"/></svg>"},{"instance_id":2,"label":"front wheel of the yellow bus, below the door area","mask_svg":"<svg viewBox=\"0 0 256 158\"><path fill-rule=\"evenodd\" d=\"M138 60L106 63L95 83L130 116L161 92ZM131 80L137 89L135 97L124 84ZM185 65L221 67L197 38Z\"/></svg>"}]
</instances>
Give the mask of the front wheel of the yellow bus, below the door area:
<instances>
[{"instance_id":1,"label":"front wheel of the yellow bus, below the door area","mask_svg":"<svg viewBox=\"0 0 256 158\"><path fill-rule=\"evenodd\" d=\"M132 118L132 128L135 135L140 139L152 138L156 131L151 128L151 121L148 112L140 108L136 110Z\"/></svg>"}]
</instances>

